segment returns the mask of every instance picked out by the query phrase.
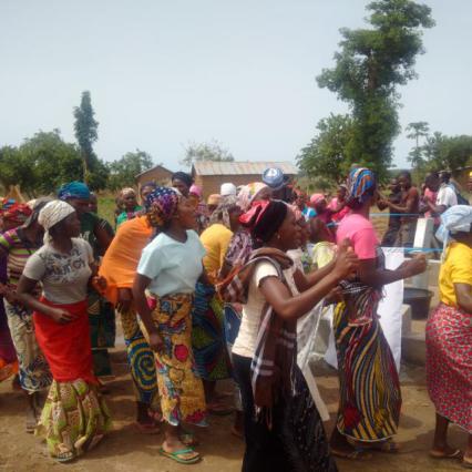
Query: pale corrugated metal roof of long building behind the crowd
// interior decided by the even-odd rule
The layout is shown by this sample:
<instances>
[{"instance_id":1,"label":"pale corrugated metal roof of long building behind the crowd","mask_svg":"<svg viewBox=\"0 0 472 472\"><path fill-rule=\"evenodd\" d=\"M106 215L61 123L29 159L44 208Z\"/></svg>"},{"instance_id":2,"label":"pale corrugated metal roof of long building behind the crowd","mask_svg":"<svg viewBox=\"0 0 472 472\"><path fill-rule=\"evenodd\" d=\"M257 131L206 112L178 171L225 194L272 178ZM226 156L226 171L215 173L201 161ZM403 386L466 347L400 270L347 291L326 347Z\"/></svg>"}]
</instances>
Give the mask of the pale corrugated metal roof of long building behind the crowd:
<instances>
[{"instance_id":1,"label":"pale corrugated metal roof of long building behind the crowd","mask_svg":"<svg viewBox=\"0 0 472 472\"><path fill-rule=\"evenodd\" d=\"M263 175L267 167L279 167L286 175L297 175L298 168L291 162L218 162L194 163L195 175Z\"/></svg>"}]
</instances>

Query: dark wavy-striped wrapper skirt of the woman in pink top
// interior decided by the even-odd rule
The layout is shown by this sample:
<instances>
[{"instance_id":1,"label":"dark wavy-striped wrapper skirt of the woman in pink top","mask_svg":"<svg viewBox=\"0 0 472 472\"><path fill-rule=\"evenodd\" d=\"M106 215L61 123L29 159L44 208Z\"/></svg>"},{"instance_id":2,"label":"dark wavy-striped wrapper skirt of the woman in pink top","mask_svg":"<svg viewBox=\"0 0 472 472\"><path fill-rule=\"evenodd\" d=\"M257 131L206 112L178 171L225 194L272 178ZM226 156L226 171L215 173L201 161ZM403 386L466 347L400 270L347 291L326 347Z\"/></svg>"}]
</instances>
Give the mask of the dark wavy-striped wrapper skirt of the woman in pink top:
<instances>
[{"instance_id":1,"label":"dark wavy-striped wrapper skirt of the woman in pink top","mask_svg":"<svg viewBox=\"0 0 472 472\"><path fill-rule=\"evenodd\" d=\"M334 330L340 381L337 427L358 441L383 441L397 433L401 391L390 347L377 316L349 324L348 308L338 304Z\"/></svg>"}]
</instances>

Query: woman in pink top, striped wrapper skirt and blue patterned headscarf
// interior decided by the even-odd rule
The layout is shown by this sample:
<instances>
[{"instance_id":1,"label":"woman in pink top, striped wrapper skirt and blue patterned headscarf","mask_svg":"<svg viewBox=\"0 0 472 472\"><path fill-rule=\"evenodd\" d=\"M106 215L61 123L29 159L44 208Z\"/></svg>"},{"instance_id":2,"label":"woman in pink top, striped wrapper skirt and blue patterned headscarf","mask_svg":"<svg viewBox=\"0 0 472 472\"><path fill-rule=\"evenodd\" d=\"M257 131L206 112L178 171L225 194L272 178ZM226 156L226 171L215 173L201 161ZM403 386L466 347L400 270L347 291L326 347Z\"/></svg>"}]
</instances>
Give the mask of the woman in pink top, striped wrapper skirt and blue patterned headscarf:
<instances>
[{"instance_id":1,"label":"woman in pink top, striped wrapper skirt and blue patterned headscarf","mask_svg":"<svg viewBox=\"0 0 472 472\"><path fill-rule=\"evenodd\" d=\"M398 451L391 438L400 419L400 383L377 307L383 285L420 274L427 267L420 256L396 270L384 269L379 240L369 220L376 198L373 173L362 167L351 171L347 194L351 213L340 223L337 239L338 245L345 238L351 240L360 264L353 279L342 280L345 301L335 310L340 400L331 437L332 452L349 459L356 459L362 449L356 449L348 440L359 448Z\"/></svg>"}]
</instances>

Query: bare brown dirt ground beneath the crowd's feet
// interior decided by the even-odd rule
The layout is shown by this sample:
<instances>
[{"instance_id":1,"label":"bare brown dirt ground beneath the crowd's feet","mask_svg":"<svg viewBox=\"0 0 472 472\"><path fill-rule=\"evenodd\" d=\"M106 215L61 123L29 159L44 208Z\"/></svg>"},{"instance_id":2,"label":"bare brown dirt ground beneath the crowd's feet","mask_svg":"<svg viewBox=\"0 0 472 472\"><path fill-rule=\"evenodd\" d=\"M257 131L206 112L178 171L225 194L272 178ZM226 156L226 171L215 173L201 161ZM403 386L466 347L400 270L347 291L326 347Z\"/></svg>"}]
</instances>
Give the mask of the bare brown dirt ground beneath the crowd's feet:
<instances>
[{"instance_id":1,"label":"bare brown dirt ground beneath the crowd's feet","mask_svg":"<svg viewBox=\"0 0 472 472\"><path fill-rule=\"evenodd\" d=\"M162 434L144 435L132 427L134 403L131 378L127 373L123 346L113 352L114 380L107 382L111 393L107 401L114 418L114 430L93 451L78 462L61 465L48 458L40 439L23 431L23 399L13 391L11 382L0 384L0 470L1 471L88 471L88 472L236 472L240 470L243 441L229 433L232 418L211 417L211 427L197 431L198 451L204 460L196 465L179 465L158 455ZM320 392L329 411L335 413L337 403L336 371L319 366L317 377ZM365 461L338 460L341 472L411 471L440 472L461 470L458 461L438 461L428 456L433 432L434 412L424 384L423 368L402 367L403 408L398 441L399 454L373 453ZM229 390L229 386L223 386ZM331 414L331 418L334 414ZM332 424L327 424L331 431ZM451 443L463 448L466 437L458 428L451 429Z\"/></svg>"}]
</instances>

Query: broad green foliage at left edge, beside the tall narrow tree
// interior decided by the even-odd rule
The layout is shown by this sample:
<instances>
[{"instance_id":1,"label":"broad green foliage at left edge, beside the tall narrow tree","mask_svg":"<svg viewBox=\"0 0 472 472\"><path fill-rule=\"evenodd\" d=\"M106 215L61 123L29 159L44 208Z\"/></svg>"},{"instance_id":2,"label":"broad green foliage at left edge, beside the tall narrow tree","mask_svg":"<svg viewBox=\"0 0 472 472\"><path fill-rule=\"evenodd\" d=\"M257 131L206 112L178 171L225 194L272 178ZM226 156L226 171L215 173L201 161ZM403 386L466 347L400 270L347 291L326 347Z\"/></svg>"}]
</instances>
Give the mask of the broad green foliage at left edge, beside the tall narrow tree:
<instances>
[{"instance_id":1,"label":"broad green foliage at left edge, beside the tall narrow tree","mask_svg":"<svg viewBox=\"0 0 472 472\"><path fill-rule=\"evenodd\" d=\"M64 182L81 179L79 148L65 143L59 130L38 132L19 147L0 150L0 181L4 187L20 185L29 195L55 193Z\"/></svg>"}]
</instances>

